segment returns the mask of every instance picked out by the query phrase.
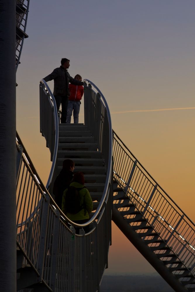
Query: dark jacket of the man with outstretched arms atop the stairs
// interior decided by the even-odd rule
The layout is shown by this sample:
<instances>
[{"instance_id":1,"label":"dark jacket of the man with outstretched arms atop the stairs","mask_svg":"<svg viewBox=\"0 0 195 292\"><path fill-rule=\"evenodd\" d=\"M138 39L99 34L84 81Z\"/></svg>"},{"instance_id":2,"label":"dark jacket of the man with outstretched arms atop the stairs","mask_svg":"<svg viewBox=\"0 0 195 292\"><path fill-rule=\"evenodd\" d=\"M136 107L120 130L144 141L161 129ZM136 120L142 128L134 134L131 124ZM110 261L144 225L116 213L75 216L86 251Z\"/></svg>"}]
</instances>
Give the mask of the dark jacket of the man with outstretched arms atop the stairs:
<instances>
[{"instance_id":1,"label":"dark jacket of the man with outstretched arms atop the stairs","mask_svg":"<svg viewBox=\"0 0 195 292\"><path fill-rule=\"evenodd\" d=\"M83 85L82 81L78 81L70 76L68 71L64 69L62 66L59 68L54 69L54 71L47 75L43 80L50 81L54 79L54 96L61 95L61 96L70 96L69 91L69 83L74 85Z\"/></svg>"}]
</instances>

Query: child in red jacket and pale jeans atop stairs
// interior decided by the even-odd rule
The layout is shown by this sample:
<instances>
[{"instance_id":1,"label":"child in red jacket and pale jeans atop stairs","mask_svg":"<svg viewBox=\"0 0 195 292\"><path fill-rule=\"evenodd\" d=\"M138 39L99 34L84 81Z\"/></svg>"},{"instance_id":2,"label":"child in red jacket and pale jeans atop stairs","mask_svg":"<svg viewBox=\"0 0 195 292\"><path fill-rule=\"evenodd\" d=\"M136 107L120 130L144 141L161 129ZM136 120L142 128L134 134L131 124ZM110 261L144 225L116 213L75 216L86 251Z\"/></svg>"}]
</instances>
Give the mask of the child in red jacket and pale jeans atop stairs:
<instances>
[{"instance_id":1,"label":"child in red jacket and pale jeans atop stairs","mask_svg":"<svg viewBox=\"0 0 195 292\"><path fill-rule=\"evenodd\" d=\"M78 81L82 80L82 77L77 74L75 79ZM79 111L80 111L80 100L83 96L84 87L82 85L73 85L69 84L70 97L68 100L68 110L67 110L67 119L66 124L70 124L72 113L74 118L74 124L79 122Z\"/></svg>"}]
</instances>

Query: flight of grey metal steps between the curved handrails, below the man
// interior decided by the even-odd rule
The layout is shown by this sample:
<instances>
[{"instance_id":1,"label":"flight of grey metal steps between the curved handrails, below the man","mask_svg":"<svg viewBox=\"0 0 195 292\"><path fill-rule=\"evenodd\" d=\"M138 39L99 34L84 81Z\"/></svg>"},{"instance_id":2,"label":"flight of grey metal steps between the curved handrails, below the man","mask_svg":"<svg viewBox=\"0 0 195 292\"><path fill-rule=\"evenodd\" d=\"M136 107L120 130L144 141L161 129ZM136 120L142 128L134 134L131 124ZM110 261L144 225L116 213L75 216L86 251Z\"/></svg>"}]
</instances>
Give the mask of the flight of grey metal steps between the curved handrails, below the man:
<instances>
[{"instance_id":1,"label":"flight of grey metal steps between the curved handrails, below the man","mask_svg":"<svg viewBox=\"0 0 195 292\"><path fill-rule=\"evenodd\" d=\"M50 192L52 193L54 180L62 169L63 160L72 159L75 162L75 172L84 173L85 186L93 200L93 211L96 210L106 182L104 159L97 150L98 145L87 126L59 124L58 154Z\"/></svg>"}]
</instances>

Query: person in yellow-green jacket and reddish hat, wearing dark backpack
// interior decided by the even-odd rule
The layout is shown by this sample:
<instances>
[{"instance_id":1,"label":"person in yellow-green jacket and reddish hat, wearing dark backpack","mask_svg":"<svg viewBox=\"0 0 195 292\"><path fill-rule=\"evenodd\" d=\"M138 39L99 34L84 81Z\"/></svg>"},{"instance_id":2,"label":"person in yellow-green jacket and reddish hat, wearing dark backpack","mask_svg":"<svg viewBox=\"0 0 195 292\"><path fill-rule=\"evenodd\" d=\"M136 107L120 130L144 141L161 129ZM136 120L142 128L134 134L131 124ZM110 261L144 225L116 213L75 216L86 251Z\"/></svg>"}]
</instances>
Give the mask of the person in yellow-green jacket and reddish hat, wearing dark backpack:
<instances>
[{"instance_id":1,"label":"person in yellow-green jacket and reddish hat, wearing dark backpack","mask_svg":"<svg viewBox=\"0 0 195 292\"><path fill-rule=\"evenodd\" d=\"M67 206L68 202L70 204L70 200L68 200L68 198L66 199L66 193L67 193L67 191L70 192L70 190L66 189L63 192L62 212L71 221L73 221L75 223L78 223L78 224L85 223L89 220L89 214L92 212L92 209L93 209L93 202L92 202L92 198L89 194L89 191L84 186L84 175L82 172L77 172L74 174L73 182L70 184L70 189L71 189L71 187L75 187L77 189L77 191L79 192L80 211L78 211L77 213L75 213L75 211L73 211L72 213L70 213L70 211L69 212L67 211L67 210L70 210L72 208L72 206L71 206L71 208L70 208L70 206ZM68 193L67 193L67 195L68 195ZM78 204L75 202L75 207L76 207L76 205L78 205ZM84 228L85 232L87 232L88 229L89 228Z\"/></svg>"}]
</instances>

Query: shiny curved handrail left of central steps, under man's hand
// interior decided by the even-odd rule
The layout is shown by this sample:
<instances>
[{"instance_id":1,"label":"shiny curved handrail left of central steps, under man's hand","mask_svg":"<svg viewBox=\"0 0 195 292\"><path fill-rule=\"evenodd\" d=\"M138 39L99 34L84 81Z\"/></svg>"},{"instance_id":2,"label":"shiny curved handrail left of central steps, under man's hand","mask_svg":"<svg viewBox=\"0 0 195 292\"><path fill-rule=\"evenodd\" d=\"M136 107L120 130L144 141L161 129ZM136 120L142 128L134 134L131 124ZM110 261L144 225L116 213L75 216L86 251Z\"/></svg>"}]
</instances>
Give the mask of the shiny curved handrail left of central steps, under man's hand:
<instances>
[{"instance_id":1,"label":"shiny curved handrail left of central steps, under man's hand","mask_svg":"<svg viewBox=\"0 0 195 292\"><path fill-rule=\"evenodd\" d=\"M52 177L53 177L53 174L54 174L54 168L55 168L57 152L58 152L58 133L59 133L58 132L58 112L57 112L56 100L54 98L53 93L51 92L51 89L49 88L49 86L47 85L45 80L41 79L40 82L42 82L44 84L44 86L45 86L46 90L48 91L48 93L50 95L50 98L51 98L51 100L53 102L53 106L54 106L54 122L55 122L55 128L56 128L54 155L53 155L51 170L50 170L50 173L49 173L49 178L48 178L47 183L46 183L46 189L48 190L49 185L50 185L51 180L52 180Z\"/></svg>"}]
</instances>

